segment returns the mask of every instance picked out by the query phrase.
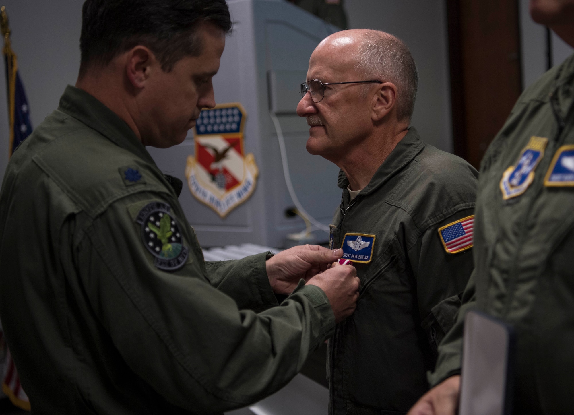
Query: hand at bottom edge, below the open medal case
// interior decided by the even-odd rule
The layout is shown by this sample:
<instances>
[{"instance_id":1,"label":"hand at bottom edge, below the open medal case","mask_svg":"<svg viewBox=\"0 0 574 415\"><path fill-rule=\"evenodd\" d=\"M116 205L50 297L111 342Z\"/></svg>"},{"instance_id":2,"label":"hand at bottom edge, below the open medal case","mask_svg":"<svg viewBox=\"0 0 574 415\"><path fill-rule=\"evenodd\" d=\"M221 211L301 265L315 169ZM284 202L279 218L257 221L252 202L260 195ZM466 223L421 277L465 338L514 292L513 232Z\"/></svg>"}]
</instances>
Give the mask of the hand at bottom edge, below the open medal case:
<instances>
[{"instance_id":1,"label":"hand at bottom edge, below the open medal case","mask_svg":"<svg viewBox=\"0 0 574 415\"><path fill-rule=\"evenodd\" d=\"M455 415L459 393L460 375L451 376L422 395L406 415Z\"/></svg>"}]
</instances>

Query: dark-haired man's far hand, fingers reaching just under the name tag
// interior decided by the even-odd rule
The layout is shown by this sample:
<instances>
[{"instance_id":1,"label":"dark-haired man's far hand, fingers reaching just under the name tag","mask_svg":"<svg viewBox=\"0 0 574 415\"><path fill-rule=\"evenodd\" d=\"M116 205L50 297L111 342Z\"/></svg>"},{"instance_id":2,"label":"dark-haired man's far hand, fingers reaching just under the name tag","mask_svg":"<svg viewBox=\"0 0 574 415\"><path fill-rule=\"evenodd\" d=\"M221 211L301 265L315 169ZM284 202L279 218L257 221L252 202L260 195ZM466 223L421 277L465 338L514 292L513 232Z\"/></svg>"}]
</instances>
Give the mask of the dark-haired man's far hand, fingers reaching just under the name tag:
<instances>
[{"instance_id":1,"label":"dark-haired man's far hand, fingers reaching just under the name tag","mask_svg":"<svg viewBox=\"0 0 574 415\"><path fill-rule=\"evenodd\" d=\"M342 256L342 249L330 250L317 245L294 246L267 259L267 277L274 293L290 294L301 278L308 281Z\"/></svg>"}]
</instances>

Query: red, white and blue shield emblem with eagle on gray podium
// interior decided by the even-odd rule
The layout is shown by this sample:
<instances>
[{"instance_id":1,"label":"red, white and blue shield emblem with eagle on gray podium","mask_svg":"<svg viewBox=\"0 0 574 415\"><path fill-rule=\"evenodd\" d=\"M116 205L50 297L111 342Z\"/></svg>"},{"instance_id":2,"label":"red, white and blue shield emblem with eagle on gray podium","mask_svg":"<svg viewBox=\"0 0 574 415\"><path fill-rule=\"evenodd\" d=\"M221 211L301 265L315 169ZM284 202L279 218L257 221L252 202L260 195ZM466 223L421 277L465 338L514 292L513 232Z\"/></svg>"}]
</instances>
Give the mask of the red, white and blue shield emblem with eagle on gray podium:
<instances>
[{"instance_id":1,"label":"red, white and blue shield emblem with eagle on gray podium","mask_svg":"<svg viewBox=\"0 0 574 415\"><path fill-rule=\"evenodd\" d=\"M224 218L251 196L259 169L243 150L246 112L239 103L203 110L194 132L195 154L185 177L192 195Z\"/></svg>"}]
</instances>

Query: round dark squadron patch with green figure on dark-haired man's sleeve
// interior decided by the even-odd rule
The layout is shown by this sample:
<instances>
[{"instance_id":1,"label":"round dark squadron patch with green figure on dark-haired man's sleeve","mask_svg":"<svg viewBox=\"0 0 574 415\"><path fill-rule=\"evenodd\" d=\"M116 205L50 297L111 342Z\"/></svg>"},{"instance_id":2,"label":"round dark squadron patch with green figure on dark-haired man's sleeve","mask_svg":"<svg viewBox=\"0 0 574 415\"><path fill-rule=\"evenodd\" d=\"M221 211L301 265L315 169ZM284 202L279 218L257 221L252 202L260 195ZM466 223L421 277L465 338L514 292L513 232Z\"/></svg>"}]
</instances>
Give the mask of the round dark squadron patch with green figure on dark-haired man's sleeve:
<instances>
[{"instance_id":1,"label":"round dark squadron patch with green figure on dark-haired man's sleeve","mask_svg":"<svg viewBox=\"0 0 574 415\"><path fill-rule=\"evenodd\" d=\"M170 215L171 207L162 202L152 202L139 211L136 222L141 224L142 240L155 257L156 268L165 271L180 269L188 256L183 246L180 227Z\"/></svg>"}]
</instances>

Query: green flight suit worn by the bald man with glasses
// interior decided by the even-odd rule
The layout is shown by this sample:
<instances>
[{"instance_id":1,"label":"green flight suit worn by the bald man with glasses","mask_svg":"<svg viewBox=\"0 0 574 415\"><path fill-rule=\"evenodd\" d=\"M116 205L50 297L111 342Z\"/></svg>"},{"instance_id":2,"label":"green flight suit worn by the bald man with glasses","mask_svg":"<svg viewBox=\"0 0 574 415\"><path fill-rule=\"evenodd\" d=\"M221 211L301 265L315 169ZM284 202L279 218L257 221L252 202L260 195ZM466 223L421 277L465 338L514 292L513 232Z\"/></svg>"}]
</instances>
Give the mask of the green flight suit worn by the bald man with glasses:
<instances>
[{"instance_id":1,"label":"green flight suit worn by the bald man with glasses","mask_svg":"<svg viewBox=\"0 0 574 415\"><path fill-rule=\"evenodd\" d=\"M352 201L340 173L333 246L362 235L367 246L356 255L373 252L370 262L354 262L359 301L329 340L331 414L405 413L428 390L426 371L472 272L472 249L447 253L439 228L473 215L477 176L414 127Z\"/></svg>"}]
</instances>

